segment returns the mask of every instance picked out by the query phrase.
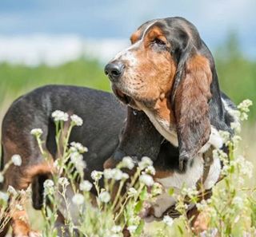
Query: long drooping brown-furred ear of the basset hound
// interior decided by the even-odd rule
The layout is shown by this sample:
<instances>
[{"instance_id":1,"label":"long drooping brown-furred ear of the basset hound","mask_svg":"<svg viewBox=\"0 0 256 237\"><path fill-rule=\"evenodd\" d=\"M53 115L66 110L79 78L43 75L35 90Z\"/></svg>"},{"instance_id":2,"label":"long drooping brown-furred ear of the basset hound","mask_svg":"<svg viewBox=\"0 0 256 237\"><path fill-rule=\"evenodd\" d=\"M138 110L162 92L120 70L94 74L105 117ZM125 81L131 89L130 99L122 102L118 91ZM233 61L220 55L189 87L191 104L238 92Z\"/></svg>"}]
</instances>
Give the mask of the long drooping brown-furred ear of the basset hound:
<instances>
[{"instance_id":1,"label":"long drooping brown-furred ear of the basset hound","mask_svg":"<svg viewBox=\"0 0 256 237\"><path fill-rule=\"evenodd\" d=\"M212 73L206 57L190 57L174 99L180 160L193 158L210 137L208 101Z\"/></svg>"}]
</instances>

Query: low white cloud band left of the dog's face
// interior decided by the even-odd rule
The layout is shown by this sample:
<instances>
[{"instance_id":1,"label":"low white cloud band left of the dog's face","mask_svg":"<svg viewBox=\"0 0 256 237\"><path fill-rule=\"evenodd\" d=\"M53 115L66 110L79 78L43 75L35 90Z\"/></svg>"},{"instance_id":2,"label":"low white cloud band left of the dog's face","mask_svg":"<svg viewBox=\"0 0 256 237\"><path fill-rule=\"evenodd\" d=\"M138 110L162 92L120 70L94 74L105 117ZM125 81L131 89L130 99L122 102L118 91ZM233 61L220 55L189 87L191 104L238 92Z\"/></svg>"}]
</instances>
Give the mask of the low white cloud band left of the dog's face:
<instances>
[{"instance_id":1,"label":"low white cloud band left of the dog's face","mask_svg":"<svg viewBox=\"0 0 256 237\"><path fill-rule=\"evenodd\" d=\"M121 39L84 40L74 35L0 36L0 61L30 66L41 63L54 66L86 56L106 63L128 43Z\"/></svg>"}]
</instances>

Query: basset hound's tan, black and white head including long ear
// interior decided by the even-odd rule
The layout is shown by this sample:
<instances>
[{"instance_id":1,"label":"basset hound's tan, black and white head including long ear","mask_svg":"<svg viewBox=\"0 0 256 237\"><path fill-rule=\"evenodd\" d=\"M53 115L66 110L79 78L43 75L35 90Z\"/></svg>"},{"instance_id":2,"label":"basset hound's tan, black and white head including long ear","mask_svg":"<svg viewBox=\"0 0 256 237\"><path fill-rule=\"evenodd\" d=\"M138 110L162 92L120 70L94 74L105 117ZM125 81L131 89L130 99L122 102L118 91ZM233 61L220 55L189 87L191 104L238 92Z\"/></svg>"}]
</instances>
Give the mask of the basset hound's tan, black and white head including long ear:
<instances>
[{"instance_id":1,"label":"basset hound's tan, black and white head including long ear","mask_svg":"<svg viewBox=\"0 0 256 237\"><path fill-rule=\"evenodd\" d=\"M184 18L146 22L130 41L105 68L114 93L143 110L167 140L177 133L181 160L194 157L210 137L209 49Z\"/></svg>"}]
</instances>

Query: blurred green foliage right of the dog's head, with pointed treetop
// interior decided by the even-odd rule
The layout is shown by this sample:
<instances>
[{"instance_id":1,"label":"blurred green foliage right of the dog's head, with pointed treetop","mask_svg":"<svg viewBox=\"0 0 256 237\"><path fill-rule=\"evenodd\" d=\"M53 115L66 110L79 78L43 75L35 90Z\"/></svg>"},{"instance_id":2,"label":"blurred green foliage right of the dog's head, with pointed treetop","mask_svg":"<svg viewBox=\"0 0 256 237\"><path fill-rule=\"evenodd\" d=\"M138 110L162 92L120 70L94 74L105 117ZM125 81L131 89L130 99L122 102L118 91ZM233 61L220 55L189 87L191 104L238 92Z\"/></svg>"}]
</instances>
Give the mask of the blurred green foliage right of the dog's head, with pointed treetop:
<instances>
[{"instance_id":1,"label":"blurred green foliage right of the dog's head, with pointed treetop","mask_svg":"<svg viewBox=\"0 0 256 237\"><path fill-rule=\"evenodd\" d=\"M215 53L220 88L232 101L239 104L250 99L250 120L256 118L256 61L246 58L239 47L236 34L230 33L226 42Z\"/></svg>"}]
</instances>

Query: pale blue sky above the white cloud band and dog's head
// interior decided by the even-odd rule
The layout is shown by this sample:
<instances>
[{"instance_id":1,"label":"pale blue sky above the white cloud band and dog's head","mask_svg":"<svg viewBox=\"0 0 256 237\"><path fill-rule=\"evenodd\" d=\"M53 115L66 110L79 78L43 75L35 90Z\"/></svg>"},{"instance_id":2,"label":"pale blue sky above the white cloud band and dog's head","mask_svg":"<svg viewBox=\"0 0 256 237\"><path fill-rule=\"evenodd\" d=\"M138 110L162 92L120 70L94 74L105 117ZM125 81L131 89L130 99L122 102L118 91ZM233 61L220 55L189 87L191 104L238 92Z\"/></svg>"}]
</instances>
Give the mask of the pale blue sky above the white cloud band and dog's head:
<instances>
[{"instance_id":1,"label":"pale blue sky above the white cloud band and dog's head","mask_svg":"<svg viewBox=\"0 0 256 237\"><path fill-rule=\"evenodd\" d=\"M256 58L255 0L1 0L0 35L78 34L129 38L146 20L182 16L198 27L210 48L235 31Z\"/></svg>"}]
</instances>

